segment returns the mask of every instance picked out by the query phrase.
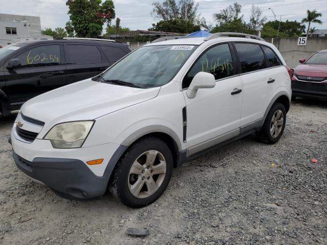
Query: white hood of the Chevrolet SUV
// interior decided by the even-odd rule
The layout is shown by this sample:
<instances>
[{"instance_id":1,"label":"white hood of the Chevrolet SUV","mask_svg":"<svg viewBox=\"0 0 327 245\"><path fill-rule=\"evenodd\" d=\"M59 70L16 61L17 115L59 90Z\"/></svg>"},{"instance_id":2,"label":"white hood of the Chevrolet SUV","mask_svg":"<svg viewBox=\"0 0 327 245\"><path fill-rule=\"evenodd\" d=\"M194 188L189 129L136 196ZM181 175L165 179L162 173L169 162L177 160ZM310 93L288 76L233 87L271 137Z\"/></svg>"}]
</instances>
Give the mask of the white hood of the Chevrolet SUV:
<instances>
[{"instance_id":1,"label":"white hood of the Chevrolet SUV","mask_svg":"<svg viewBox=\"0 0 327 245\"><path fill-rule=\"evenodd\" d=\"M52 125L92 120L153 99L159 90L160 87L142 89L87 79L34 97L21 107L21 112Z\"/></svg>"}]
</instances>

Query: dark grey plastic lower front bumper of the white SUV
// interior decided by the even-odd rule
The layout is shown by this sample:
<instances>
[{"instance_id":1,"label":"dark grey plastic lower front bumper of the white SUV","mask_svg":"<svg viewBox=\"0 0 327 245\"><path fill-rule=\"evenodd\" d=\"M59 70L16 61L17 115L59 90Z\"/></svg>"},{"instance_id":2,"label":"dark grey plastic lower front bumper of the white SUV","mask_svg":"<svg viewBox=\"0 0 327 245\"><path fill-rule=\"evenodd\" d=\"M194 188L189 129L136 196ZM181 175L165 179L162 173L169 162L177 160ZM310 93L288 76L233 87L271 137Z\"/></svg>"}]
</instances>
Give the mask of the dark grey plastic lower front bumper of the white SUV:
<instances>
[{"instance_id":1,"label":"dark grey plastic lower front bumper of the white SUV","mask_svg":"<svg viewBox=\"0 0 327 245\"><path fill-rule=\"evenodd\" d=\"M80 160L40 157L30 162L15 152L13 157L19 170L64 198L90 199L106 192L109 177L97 177Z\"/></svg>"}]
</instances>

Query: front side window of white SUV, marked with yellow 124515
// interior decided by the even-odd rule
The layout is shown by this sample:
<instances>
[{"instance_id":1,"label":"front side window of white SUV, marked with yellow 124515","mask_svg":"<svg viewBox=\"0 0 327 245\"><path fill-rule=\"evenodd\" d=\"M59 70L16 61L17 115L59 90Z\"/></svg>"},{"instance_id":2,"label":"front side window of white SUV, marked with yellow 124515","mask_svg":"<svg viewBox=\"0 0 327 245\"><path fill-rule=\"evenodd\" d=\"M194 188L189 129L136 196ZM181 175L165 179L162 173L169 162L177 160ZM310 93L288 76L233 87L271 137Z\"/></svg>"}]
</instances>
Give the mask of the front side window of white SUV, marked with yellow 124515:
<instances>
[{"instance_id":1,"label":"front side window of white SUV, marked with yellow 124515","mask_svg":"<svg viewBox=\"0 0 327 245\"><path fill-rule=\"evenodd\" d=\"M184 77L182 87L188 88L194 76L200 71L211 73L216 80L232 76L233 61L228 44L214 46L202 54Z\"/></svg>"}]
</instances>

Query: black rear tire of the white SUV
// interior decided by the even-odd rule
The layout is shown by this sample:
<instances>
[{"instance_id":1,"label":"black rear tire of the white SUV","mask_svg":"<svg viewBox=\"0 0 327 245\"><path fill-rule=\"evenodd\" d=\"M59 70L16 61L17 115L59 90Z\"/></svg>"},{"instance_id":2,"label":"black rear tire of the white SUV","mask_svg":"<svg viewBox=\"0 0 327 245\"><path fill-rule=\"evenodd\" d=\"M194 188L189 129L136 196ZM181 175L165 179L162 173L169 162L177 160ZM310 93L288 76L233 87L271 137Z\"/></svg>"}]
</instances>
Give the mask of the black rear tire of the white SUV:
<instances>
[{"instance_id":1,"label":"black rear tire of the white SUV","mask_svg":"<svg viewBox=\"0 0 327 245\"><path fill-rule=\"evenodd\" d=\"M278 128L278 135L274 135L271 133L271 129L273 127L273 116L276 115L277 112L282 112L283 116L283 125ZM286 124L286 109L282 103L275 103L268 112L268 115L265 119L264 125L262 126L259 132L256 132L256 138L261 142L274 144L276 143L283 135Z\"/></svg>"}]
</instances>

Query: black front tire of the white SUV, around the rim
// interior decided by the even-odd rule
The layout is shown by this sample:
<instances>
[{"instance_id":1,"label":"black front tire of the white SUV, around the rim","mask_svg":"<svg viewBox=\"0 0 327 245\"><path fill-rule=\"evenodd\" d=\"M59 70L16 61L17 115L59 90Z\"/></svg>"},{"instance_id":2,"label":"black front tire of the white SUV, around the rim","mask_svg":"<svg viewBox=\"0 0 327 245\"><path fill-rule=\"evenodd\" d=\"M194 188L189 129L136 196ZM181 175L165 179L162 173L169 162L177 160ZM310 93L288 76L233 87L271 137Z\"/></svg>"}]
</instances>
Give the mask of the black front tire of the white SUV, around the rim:
<instances>
[{"instance_id":1,"label":"black front tire of the white SUV, around the rim","mask_svg":"<svg viewBox=\"0 0 327 245\"><path fill-rule=\"evenodd\" d=\"M130 190L131 175L133 175L130 173L130 170L132 165L136 161L138 162L142 156L146 156L144 153L148 153L148 152L158 152L160 153L161 158L164 157L164 160L166 161L166 173L165 176L162 176L161 174L160 185L154 193L152 193L149 197L138 198ZM145 166L148 163L148 157L146 156L145 158L146 160L144 160L144 164L142 166ZM156 158L156 161L159 160L157 160ZM155 165L153 164L153 166ZM126 206L132 208L141 208L153 203L155 200L157 200L160 197L162 193L164 193L171 179L172 171L173 171L173 156L168 145L164 141L160 140L159 138L155 138L155 137L142 138L141 140L138 140L133 145L131 145L130 148L123 154L123 156L117 163L114 170L113 179L109 186L109 191L111 192L111 194L115 199L122 202ZM142 180L144 178L144 177L140 177L139 175L134 175L132 177L135 176L137 177L136 181L138 181L139 178L142 178ZM145 178L149 178L149 177L145 177ZM153 176L153 179L155 179L155 176ZM153 179L151 177L151 180ZM147 180L145 179L145 181ZM142 191L143 188L145 188L147 191ZM146 192L149 192L147 183L144 183L144 187L142 187L142 190L139 191L139 193L144 194Z\"/></svg>"}]
</instances>

